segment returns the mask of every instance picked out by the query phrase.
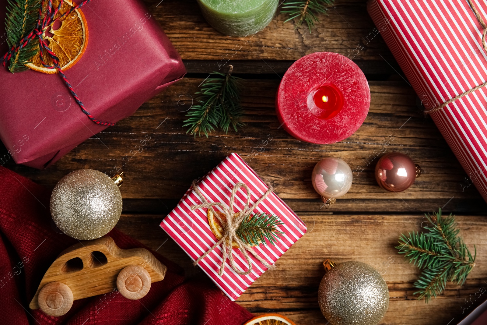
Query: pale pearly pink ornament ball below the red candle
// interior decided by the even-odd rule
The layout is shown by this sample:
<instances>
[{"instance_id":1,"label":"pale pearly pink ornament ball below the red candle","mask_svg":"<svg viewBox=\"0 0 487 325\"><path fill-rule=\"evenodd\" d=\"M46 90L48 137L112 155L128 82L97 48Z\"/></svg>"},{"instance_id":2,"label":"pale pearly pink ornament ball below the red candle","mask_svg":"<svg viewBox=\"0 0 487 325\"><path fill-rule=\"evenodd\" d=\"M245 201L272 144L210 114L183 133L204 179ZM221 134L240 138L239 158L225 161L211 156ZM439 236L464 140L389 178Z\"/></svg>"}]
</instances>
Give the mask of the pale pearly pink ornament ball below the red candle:
<instances>
[{"instance_id":1,"label":"pale pearly pink ornament ball below the red candle","mask_svg":"<svg viewBox=\"0 0 487 325\"><path fill-rule=\"evenodd\" d=\"M336 199L345 195L352 186L352 170L346 162L340 158L328 157L316 164L311 174L311 182L315 191L321 195L321 199L328 209Z\"/></svg>"}]
</instances>

